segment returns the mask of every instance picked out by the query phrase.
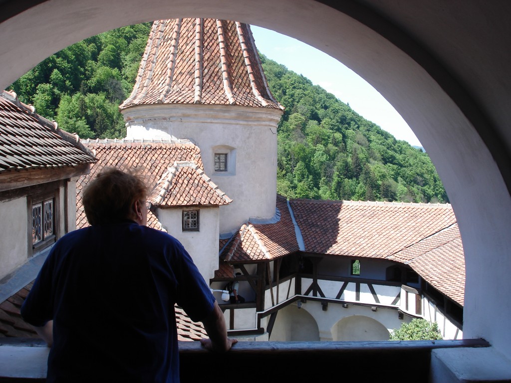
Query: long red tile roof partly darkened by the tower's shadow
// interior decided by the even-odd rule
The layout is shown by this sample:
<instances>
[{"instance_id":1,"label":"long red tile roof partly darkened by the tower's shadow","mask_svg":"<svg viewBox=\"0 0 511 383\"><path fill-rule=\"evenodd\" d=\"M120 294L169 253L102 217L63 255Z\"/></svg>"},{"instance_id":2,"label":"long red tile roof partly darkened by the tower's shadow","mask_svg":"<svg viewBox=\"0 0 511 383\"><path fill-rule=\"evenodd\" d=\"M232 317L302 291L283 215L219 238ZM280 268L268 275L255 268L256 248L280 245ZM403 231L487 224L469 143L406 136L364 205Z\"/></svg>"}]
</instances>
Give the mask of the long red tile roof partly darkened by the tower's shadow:
<instances>
[{"instance_id":1,"label":"long red tile roof partly darkened by the tower's shadow","mask_svg":"<svg viewBox=\"0 0 511 383\"><path fill-rule=\"evenodd\" d=\"M449 204L290 201L305 250L386 258L456 223Z\"/></svg>"}]
</instances>

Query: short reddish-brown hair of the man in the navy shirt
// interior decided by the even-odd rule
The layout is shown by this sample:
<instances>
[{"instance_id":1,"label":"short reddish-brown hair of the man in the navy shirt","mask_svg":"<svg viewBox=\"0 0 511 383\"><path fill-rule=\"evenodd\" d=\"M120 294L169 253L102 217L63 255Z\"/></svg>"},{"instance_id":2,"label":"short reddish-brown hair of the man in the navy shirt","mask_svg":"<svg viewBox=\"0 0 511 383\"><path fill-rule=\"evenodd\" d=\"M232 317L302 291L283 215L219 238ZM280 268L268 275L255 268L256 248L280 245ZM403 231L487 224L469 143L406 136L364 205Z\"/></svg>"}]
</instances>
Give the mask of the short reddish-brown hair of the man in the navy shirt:
<instances>
[{"instance_id":1,"label":"short reddish-brown hair of the man in the navy shirt","mask_svg":"<svg viewBox=\"0 0 511 383\"><path fill-rule=\"evenodd\" d=\"M91 225L131 219L131 205L145 201L148 189L142 178L131 171L104 168L83 192L83 207Z\"/></svg>"}]
</instances>

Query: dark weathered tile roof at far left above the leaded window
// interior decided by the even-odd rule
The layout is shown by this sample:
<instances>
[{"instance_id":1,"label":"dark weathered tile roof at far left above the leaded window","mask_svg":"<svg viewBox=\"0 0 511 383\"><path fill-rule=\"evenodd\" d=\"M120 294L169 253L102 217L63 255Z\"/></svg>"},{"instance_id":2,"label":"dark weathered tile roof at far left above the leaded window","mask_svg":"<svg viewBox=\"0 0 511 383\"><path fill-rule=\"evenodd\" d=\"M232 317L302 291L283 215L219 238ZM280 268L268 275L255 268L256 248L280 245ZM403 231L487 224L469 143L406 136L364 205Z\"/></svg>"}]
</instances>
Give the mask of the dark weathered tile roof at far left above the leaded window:
<instances>
[{"instance_id":1,"label":"dark weathered tile roof at far left above the leaded window","mask_svg":"<svg viewBox=\"0 0 511 383\"><path fill-rule=\"evenodd\" d=\"M95 162L77 135L36 114L14 92L0 92L0 173Z\"/></svg>"}]
</instances>

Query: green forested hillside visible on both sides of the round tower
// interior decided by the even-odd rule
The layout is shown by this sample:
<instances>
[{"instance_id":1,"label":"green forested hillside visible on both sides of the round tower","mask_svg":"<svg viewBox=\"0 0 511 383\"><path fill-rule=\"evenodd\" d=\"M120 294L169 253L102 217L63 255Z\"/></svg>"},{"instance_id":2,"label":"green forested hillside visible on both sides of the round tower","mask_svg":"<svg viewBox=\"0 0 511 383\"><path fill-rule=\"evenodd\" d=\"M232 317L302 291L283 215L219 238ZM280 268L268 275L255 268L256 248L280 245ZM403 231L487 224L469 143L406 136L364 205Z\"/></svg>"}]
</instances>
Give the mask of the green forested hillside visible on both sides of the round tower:
<instances>
[{"instance_id":1,"label":"green forested hillside visible on both sides of the round tower","mask_svg":"<svg viewBox=\"0 0 511 383\"><path fill-rule=\"evenodd\" d=\"M37 113L82 138L121 138L118 106L131 92L150 24L67 47L11 88ZM428 155L367 121L303 76L261 55L278 127L277 192L290 198L447 202Z\"/></svg>"}]
</instances>

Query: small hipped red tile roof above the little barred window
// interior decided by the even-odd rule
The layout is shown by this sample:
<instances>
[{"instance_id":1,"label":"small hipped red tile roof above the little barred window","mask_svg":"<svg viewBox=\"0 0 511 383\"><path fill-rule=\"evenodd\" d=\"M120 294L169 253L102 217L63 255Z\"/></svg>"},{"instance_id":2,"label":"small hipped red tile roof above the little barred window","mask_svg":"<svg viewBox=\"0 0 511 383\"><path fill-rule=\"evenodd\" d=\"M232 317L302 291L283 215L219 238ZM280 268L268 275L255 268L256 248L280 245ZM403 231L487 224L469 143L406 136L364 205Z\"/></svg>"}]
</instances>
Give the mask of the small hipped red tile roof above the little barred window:
<instances>
[{"instance_id":1,"label":"small hipped red tile roof above the little barred window","mask_svg":"<svg viewBox=\"0 0 511 383\"><path fill-rule=\"evenodd\" d=\"M176 161L165 172L148 201L160 207L219 206L233 200L195 162Z\"/></svg>"}]
</instances>

